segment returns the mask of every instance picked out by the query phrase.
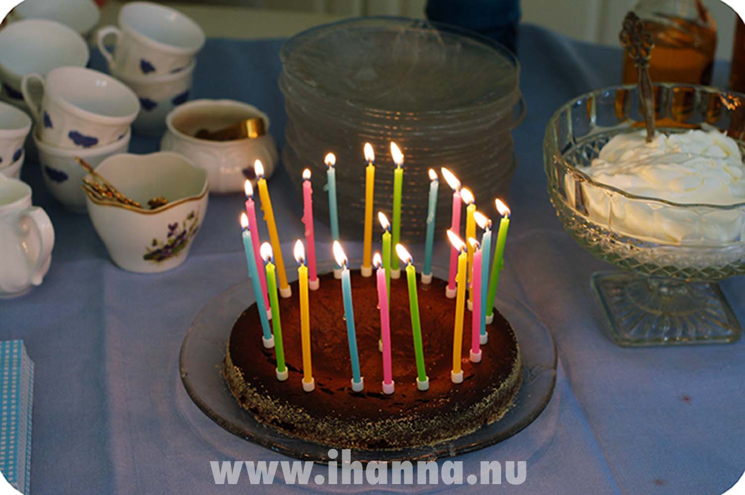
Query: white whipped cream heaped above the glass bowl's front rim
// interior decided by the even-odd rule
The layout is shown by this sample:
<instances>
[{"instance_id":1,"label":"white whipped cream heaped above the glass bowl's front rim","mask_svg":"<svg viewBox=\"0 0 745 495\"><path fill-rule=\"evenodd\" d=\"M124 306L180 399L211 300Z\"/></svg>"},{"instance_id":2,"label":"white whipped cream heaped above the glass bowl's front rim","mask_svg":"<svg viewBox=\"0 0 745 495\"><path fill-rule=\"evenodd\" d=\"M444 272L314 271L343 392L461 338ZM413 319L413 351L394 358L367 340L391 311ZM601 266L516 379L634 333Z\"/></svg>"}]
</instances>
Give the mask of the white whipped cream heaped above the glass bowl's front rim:
<instances>
[{"instance_id":1,"label":"white whipped cream heaped above the glass bowl's front rim","mask_svg":"<svg viewBox=\"0 0 745 495\"><path fill-rule=\"evenodd\" d=\"M677 203L745 202L745 165L738 144L717 130L615 135L583 173L636 196Z\"/></svg>"}]
</instances>

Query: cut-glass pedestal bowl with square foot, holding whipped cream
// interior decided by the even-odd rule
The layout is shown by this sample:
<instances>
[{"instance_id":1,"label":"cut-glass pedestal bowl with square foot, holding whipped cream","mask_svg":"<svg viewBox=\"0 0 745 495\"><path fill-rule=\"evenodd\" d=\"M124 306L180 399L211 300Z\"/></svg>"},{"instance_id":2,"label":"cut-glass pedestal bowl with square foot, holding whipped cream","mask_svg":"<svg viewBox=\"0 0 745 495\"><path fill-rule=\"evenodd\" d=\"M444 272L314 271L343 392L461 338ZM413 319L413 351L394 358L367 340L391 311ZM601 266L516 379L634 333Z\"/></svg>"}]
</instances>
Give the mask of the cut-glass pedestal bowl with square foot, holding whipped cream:
<instances>
[{"instance_id":1,"label":"cut-glass pedestal bowl with square foot, holding whipped cream","mask_svg":"<svg viewBox=\"0 0 745 495\"><path fill-rule=\"evenodd\" d=\"M659 132L726 131L745 149L745 95L661 83ZM596 272L592 288L618 345L735 342L741 327L717 281L745 274L745 202L679 204L595 182L588 167L614 135L644 129L636 86L565 103L546 128L548 194L574 240L623 272Z\"/></svg>"}]
</instances>

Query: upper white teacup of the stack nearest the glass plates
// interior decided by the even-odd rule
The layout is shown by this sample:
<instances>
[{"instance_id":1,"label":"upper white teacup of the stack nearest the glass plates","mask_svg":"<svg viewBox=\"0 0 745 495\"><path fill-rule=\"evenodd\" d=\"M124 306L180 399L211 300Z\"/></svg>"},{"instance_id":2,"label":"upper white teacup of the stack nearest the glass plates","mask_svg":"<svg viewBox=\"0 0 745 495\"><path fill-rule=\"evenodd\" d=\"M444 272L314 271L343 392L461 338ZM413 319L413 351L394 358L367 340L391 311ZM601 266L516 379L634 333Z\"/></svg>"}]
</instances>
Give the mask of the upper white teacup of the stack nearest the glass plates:
<instances>
[{"instance_id":1,"label":"upper white teacup of the stack nearest the glass plates","mask_svg":"<svg viewBox=\"0 0 745 495\"><path fill-rule=\"evenodd\" d=\"M115 37L113 54L104 43ZM178 10L148 1L121 7L119 28L98 30L98 49L110 70L127 75L172 74L186 68L204 45L204 31Z\"/></svg>"}]
</instances>

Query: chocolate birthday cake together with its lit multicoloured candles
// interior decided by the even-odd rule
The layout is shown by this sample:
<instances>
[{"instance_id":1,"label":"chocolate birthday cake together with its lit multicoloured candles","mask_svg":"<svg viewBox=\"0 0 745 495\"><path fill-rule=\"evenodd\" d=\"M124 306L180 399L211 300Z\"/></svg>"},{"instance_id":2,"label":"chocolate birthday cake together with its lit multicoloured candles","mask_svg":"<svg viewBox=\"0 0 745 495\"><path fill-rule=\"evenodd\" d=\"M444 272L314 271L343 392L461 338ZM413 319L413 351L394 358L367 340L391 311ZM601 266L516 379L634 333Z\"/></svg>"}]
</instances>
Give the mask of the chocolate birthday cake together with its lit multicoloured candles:
<instances>
[{"instance_id":1,"label":"chocolate birthday cake together with its lit multicoloured candles","mask_svg":"<svg viewBox=\"0 0 745 495\"><path fill-rule=\"evenodd\" d=\"M327 157L329 162L333 167L334 160ZM367 241L361 270L352 270L335 240L335 270L319 274L311 178L304 173L305 243L295 244L297 281L290 282L282 252L273 249L278 235L260 168L256 175L272 242L259 246L253 191L247 185L247 213L241 223L250 278L259 296L233 325L222 363L229 390L244 409L287 435L361 450L440 444L502 418L522 383L516 334L493 309L509 210L503 214L492 262L491 222L475 211L472 194L443 169L454 191L448 280L431 275L434 229L428 229L421 274L405 246L394 241L400 218L395 201L393 226L378 214L381 253L372 255ZM437 174L430 170L429 175L436 201ZM457 234L463 202L468 242ZM335 201L329 198L329 203ZM503 203L497 205L502 213ZM434 201L430 209L434 211ZM428 222L434 224L434 214ZM332 216L336 237L333 224ZM483 230L481 242L476 240L477 226Z\"/></svg>"}]
</instances>

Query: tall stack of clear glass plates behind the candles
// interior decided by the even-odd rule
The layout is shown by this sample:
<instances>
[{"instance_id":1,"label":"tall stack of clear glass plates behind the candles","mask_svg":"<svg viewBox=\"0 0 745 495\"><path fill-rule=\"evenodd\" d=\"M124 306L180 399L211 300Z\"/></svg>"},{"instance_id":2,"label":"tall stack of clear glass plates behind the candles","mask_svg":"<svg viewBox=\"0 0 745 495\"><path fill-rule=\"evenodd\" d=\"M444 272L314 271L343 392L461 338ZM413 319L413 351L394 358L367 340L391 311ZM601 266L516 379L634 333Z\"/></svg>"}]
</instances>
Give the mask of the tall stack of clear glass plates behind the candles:
<instances>
[{"instance_id":1,"label":"tall stack of clear glass plates behind the candles","mask_svg":"<svg viewBox=\"0 0 745 495\"><path fill-rule=\"evenodd\" d=\"M367 17L300 33L281 57L285 166L299 191L305 167L314 184L326 182L323 157L335 153L343 237L361 238L366 141L375 149L375 211L389 217L390 141L405 154L402 240L423 240L430 167L452 170L493 216L493 199L506 196L517 166L510 131L524 115L510 51L460 28ZM450 222L450 195L440 178L438 228ZM328 218L328 202L314 208Z\"/></svg>"}]
</instances>

